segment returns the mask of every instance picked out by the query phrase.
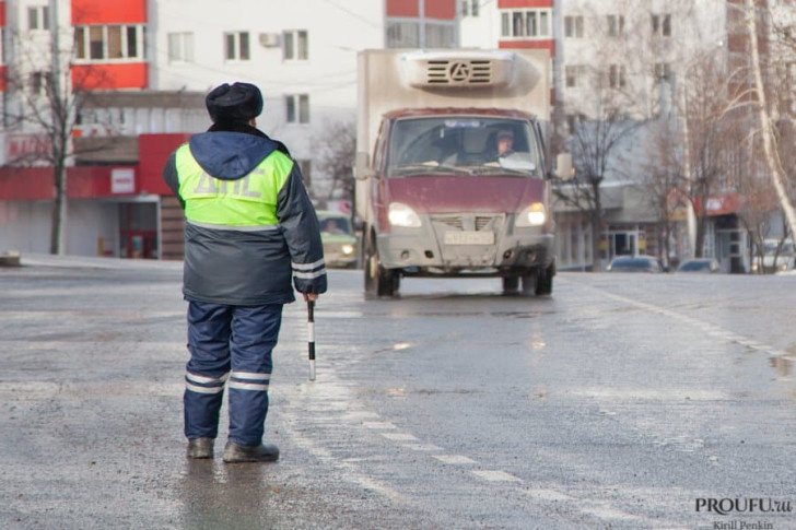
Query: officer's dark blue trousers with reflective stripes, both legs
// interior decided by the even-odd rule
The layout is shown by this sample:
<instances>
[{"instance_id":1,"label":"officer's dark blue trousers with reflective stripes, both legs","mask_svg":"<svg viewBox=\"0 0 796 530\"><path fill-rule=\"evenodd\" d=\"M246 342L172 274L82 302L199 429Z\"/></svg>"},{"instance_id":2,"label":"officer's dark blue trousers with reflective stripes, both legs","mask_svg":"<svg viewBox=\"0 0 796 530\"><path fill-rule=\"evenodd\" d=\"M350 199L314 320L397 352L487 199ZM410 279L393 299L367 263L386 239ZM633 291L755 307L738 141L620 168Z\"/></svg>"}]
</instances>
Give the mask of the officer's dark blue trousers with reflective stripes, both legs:
<instances>
[{"instance_id":1,"label":"officer's dark blue trousers with reflective stripes, both legs","mask_svg":"<svg viewBox=\"0 0 796 530\"><path fill-rule=\"evenodd\" d=\"M185 436L215 438L224 385L230 389L230 439L262 441L268 413L271 352L282 322L282 305L227 306L188 303L185 374Z\"/></svg>"}]
</instances>

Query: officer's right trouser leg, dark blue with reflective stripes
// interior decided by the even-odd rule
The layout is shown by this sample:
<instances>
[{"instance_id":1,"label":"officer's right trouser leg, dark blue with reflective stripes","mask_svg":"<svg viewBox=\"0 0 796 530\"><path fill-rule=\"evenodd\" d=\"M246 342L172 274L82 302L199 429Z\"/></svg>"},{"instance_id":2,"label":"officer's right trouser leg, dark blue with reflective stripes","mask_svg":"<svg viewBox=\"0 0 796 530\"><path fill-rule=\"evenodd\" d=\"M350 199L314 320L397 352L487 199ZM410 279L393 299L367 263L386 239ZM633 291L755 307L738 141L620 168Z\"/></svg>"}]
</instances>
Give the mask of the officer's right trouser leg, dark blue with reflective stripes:
<instances>
[{"instance_id":1,"label":"officer's right trouser leg, dark blue with reflective stripes","mask_svg":"<svg viewBox=\"0 0 796 530\"><path fill-rule=\"evenodd\" d=\"M277 345L282 305L236 307L232 319L230 439L241 445L262 441L268 413L271 352Z\"/></svg>"}]
</instances>

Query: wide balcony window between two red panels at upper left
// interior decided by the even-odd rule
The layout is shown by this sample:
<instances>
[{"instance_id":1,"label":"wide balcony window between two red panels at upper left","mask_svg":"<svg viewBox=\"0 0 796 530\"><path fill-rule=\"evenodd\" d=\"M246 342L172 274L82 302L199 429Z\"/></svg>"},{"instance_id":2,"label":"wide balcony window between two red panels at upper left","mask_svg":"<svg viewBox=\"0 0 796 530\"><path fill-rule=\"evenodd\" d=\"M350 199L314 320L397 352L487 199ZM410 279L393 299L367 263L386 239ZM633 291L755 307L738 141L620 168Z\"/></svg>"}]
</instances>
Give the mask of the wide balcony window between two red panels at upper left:
<instances>
[{"instance_id":1,"label":"wide balcony window between two red panels at upper left","mask_svg":"<svg viewBox=\"0 0 796 530\"><path fill-rule=\"evenodd\" d=\"M143 59L143 26L75 26L75 58L84 61Z\"/></svg>"}]
</instances>

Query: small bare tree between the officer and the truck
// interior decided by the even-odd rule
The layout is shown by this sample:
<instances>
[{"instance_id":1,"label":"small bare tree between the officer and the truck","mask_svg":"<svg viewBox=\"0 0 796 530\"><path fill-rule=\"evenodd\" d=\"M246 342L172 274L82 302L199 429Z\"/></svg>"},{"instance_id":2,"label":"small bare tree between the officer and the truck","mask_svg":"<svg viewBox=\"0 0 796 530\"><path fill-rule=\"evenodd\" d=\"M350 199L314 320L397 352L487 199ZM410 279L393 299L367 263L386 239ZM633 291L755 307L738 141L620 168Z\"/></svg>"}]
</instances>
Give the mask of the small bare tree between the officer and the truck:
<instances>
[{"instance_id":1,"label":"small bare tree between the officer and the truck","mask_svg":"<svg viewBox=\"0 0 796 530\"><path fill-rule=\"evenodd\" d=\"M315 140L318 169L329 178L327 199L353 201L356 127L353 121L327 121Z\"/></svg>"}]
</instances>

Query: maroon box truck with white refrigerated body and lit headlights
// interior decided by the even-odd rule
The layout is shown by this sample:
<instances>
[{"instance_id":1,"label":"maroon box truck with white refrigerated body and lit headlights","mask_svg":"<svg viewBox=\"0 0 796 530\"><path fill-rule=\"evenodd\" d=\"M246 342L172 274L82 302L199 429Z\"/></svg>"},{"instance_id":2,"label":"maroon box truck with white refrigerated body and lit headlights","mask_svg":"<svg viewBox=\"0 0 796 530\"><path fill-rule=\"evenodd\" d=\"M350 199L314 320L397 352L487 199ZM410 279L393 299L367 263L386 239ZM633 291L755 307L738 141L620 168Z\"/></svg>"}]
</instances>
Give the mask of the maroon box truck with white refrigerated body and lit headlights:
<instances>
[{"instance_id":1,"label":"maroon box truck with white refrigerated body and lit headlights","mask_svg":"<svg viewBox=\"0 0 796 530\"><path fill-rule=\"evenodd\" d=\"M365 292L402 276L499 276L549 295L555 274L546 50L359 55L355 213ZM559 155L558 172L571 174Z\"/></svg>"}]
</instances>

